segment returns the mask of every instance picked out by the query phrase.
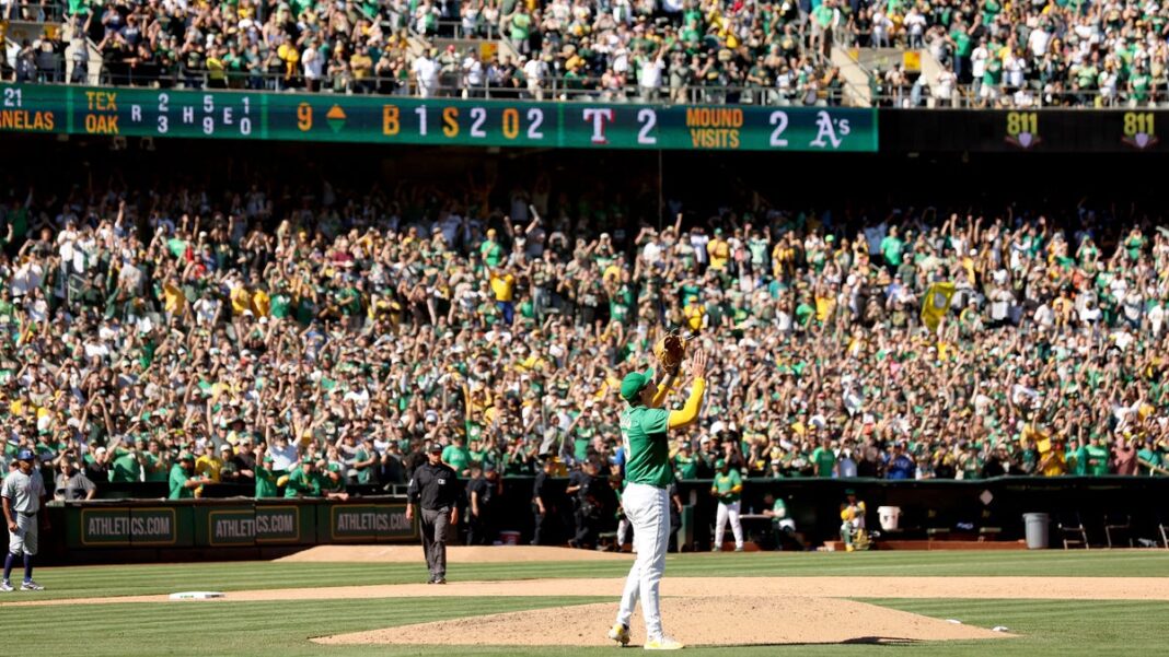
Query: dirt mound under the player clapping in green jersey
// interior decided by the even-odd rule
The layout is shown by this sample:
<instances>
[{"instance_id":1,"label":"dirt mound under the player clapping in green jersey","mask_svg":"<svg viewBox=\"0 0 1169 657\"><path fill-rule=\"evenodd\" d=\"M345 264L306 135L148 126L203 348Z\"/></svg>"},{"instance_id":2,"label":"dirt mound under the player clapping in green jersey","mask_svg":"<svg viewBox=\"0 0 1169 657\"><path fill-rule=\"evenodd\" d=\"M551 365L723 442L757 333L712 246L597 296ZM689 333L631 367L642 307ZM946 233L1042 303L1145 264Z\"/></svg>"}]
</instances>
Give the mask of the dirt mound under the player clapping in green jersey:
<instances>
[{"instance_id":1,"label":"dirt mound under the player clapping in green jersey","mask_svg":"<svg viewBox=\"0 0 1169 657\"><path fill-rule=\"evenodd\" d=\"M512 611L314 638L331 644L611 645L616 602ZM686 645L915 643L1011 636L851 600L781 596L667 597L666 634ZM630 628L645 641L641 609Z\"/></svg>"}]
</instances>

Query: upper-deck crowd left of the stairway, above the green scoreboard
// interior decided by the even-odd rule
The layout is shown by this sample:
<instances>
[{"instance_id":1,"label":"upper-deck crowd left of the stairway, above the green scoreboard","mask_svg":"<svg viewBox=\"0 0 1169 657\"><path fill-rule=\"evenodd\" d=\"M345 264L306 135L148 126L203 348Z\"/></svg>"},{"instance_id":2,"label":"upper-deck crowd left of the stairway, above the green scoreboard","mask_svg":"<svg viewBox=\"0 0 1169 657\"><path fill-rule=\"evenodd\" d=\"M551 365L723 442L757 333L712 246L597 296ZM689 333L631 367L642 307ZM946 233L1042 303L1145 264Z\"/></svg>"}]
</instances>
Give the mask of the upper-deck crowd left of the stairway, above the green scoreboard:
<instances>
[{"instance_id":1,"label":"upper-deck crowd left of the stairway, above the green scoreboard","mask_svg":"<svg viewBox=\"0 0 1169 657\"><path fill-rule=\"evenodd\" d=\"M842 85L814 51L841 21L835 1L70 1L11 76L84 82L88 36L111 84L614 100L708 89L704 102L732 103L767 89L768 102L823 104ZM438 47L456 30L458 47ZM503 47L480 49L484 37Z\"/></svg>"}]
</instances>

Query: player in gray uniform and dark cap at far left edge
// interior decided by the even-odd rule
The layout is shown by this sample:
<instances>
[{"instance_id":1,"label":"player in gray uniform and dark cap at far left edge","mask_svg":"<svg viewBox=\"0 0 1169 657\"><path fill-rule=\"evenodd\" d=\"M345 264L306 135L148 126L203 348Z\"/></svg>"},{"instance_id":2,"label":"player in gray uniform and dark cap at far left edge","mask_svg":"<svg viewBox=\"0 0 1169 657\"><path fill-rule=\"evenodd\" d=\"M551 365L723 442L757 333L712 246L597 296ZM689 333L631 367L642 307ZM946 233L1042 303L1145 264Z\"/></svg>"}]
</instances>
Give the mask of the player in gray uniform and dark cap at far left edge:
<instances>
[{"instance_id":1,"label":"player in gray uniform and dark cap at far left edge","mask_svg":"<svg viewBox=\"0 0 1169 657\"><path fill-rule=\"evenodd\" d=\"M36 555L36 513L42 509L47 494L41 473L33 468L33 452L21 449L16 453L19 467L8 473L0 487L4 498L4 517L8 523L8 554L4 559L4 581L0 592L13 590L8 575L16 564L16 558L23 557L25 581L21 590L44 590L44 587L33 581L33 557Z\"/></svg>"}]
</instances>

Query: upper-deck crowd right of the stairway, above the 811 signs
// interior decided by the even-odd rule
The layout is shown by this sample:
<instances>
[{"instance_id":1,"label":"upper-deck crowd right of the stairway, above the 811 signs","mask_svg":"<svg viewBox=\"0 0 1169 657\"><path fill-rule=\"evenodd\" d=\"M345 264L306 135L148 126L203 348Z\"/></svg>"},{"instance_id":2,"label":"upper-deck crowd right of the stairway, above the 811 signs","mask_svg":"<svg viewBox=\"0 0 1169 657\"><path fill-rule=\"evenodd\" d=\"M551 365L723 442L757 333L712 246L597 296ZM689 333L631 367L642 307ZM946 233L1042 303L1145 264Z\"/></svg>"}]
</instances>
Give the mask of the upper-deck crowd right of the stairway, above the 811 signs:
<instances>
[{"instance_id":1,"label":"upper-deck crowd right of the stairway, above the 811 signs","mask_svg":"<svg viewBox=\"0 0 1169 657\"><path fill-rule=\"evenodd\" d=\"M942 64L934 79L911 79L904 67L878 76L894 102L920 103L922 85L941 104L960 97L1005 107L1164 102L1169 7L1157 2L892 0L856 20L866 44L926 48Z\"/></svg>"}]
</instances>

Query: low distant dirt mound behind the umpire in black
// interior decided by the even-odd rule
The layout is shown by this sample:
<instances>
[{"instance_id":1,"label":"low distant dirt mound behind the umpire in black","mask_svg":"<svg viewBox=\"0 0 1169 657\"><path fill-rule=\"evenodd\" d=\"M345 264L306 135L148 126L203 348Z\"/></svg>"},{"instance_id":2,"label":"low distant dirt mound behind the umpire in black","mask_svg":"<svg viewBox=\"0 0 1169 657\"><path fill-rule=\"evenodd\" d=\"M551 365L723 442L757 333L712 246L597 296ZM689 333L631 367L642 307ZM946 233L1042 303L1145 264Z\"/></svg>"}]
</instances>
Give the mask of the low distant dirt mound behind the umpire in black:
<instances>
[{"instance_id":1,"label":"low distant dirt mound behind the umpire in black","mask_svg":"<svg viewBox=\"0 0 1169 657\"><path fill-rule=\"evenodd\" d=\"M632 554L570 550L534 545L451 545L448 564L509 564L527 561L632 561ZM422 545L318 545L277 561L380 561L382 564L426 564Z\"/></svg>"}]
</instances>

